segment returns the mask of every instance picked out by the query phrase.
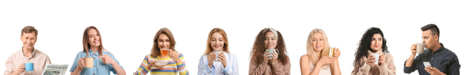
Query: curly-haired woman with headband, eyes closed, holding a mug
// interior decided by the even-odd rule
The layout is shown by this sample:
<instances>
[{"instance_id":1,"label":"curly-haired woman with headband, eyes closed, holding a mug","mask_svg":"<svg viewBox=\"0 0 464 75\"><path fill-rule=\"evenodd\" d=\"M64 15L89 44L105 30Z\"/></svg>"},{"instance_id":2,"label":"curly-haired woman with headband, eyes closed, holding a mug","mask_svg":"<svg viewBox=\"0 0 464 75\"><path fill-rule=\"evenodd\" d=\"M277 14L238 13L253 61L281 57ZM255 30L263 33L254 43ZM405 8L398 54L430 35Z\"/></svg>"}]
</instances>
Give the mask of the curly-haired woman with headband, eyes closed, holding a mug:
<instances>
[{"instance_id":1,"label":"curly-haired woman with headband, eyes closed, holding a mug","mask_svg":"<svg viewBox=\"0 0 464 75\"><path fill-rule=\"evenodd\" d=\"M248 75L290 75L290 59L279 31L265 28L251 49Z\"/></svg>"}]
</instances>

